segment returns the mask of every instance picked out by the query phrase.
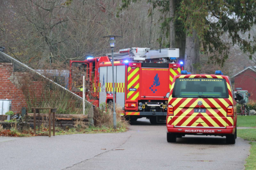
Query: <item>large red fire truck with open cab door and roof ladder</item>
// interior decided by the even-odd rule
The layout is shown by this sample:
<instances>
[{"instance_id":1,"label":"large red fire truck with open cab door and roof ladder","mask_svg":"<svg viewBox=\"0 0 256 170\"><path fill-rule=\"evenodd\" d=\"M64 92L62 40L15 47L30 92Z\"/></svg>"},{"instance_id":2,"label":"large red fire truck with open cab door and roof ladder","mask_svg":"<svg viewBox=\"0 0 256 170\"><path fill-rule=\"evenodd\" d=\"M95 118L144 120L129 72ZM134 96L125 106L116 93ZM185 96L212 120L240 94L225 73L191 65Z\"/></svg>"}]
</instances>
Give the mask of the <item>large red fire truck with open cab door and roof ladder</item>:
<instances>
[{"instance_id":1,"label":"large red fire truck with open cab door and roof ladder","mask_svg":"<svg viewBox=\"0 0 256 170\"><path fill-rule=\"evenodd\" d=\"M168 98L174 76L183 69L179 49L130 48L114 53L116 103L130 120L146 117L151 123L165 122ZM85 61L70 61L70 90L72 67L84 69L91 86L86 89L94 105L113 102L111 53L103 57L88 57ZM82 92L77 92L82 96Z\"/></svg>"}]
</instances>

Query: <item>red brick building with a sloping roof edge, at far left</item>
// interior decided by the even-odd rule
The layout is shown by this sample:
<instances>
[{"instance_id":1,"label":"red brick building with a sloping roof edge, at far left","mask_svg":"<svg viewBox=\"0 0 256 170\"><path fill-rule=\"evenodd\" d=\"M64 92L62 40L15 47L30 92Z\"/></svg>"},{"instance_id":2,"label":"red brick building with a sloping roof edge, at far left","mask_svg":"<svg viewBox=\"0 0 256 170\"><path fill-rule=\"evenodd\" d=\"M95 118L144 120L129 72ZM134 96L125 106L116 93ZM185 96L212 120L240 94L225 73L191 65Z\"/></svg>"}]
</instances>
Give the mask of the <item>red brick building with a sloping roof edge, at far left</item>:
<instances>
[{"instance_id":1,"label":"red brick building with a sloping roof edge, at far left","mask_svg":"<svg viewBox=\"0 0 256 170\"><path fill-rule=\"evenodd\" d=\"M32 80L30 79L29 81L26 81L26 76L32 76ZM38 78L38 76L41 78ZM42 80L42 77L44 76L32 68L20 63L9 55L6 55L0 51L0 99L12 100L12 111L20 113L22 107L28 108L28 100L33 102L34 98L44 98L44 95L42 94L43 84L54 83L57 86L60 86L56 82L45 77L44 81L42 82L40 81ZM47 81L45 81L45 79L47 79ZM29 86L24 86L24 84L29 84ZM66 88L62 86L60 86L60 88L68 93L71 93L76 100L82 101L81 97L70 92ZM74 98L70 99L70 102L76 101Z\"/></svg>"}]
</instances>

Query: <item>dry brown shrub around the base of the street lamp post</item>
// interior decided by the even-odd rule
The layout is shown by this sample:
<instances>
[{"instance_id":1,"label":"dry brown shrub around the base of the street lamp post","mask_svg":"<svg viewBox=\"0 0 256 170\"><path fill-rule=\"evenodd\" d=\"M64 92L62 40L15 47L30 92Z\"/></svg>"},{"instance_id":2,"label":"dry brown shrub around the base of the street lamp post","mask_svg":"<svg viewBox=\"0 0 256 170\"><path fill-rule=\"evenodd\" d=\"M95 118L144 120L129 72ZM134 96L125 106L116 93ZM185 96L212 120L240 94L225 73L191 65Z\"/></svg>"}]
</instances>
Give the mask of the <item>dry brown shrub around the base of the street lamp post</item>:
<instances>
[{"instance_id":1,"label":"dry brown shrub around the base of the street lamp post","mask_svg":"<svg viewBox=\"0 0 256 170\"><path fill-rule=\"evenodd\" d=\"M121 116L122 107L116 105L116 128L126 128L129 123ZM105 103L94 109L94 125L96 127L113 127L113 109Z\"/></svg>"}]
</instances>

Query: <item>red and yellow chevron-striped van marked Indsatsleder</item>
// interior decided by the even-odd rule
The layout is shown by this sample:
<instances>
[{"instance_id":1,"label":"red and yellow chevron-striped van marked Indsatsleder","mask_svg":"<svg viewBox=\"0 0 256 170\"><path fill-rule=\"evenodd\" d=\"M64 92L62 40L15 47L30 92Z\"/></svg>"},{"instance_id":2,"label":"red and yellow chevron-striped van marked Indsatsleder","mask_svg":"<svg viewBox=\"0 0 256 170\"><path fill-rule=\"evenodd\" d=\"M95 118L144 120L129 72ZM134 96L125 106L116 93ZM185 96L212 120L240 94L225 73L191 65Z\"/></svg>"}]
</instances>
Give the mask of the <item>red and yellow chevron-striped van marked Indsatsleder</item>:
<instances>
[{"instance_id":1,"label":"red and yellow chevron-striped van marked Indsatsleder","mask_svg":"<svg viewBox=\"0 0 256 170\"><path fill-rule=\"evenodd\" d=\"M226 136L236 142L236 100L231 81L221 71L215 74L187 74L174 77L166 116L167 141L185 135Z\"/></svg>"}]
</instances>

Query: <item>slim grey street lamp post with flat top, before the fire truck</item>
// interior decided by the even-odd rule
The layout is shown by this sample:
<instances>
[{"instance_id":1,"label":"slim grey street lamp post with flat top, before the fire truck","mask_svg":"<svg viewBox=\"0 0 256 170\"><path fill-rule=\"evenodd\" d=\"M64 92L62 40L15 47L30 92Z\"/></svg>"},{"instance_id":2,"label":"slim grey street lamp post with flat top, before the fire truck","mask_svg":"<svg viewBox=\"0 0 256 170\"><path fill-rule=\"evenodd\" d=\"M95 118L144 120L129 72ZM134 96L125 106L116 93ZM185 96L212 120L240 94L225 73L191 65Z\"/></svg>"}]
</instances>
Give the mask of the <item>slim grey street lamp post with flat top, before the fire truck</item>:
<instances>
[{"instance_id":1,"label":"slim grey street lamp post with flat top, before the fire truck","mask_svg":"<svg viewBox=\"0 0 256 170\"><path fill-rule=\"evenodd\" d=\"M109 37L108 42L110 43L110 48L112 52L112 93L113 93L113 127L116 129L116 94L115 94L115 76L114 76L114 47L116 44L116 37L122 37L122 36L117 36L117 35L108 35L104 36L103 38Z\"/></svg>"}]
</instances>

